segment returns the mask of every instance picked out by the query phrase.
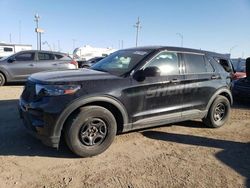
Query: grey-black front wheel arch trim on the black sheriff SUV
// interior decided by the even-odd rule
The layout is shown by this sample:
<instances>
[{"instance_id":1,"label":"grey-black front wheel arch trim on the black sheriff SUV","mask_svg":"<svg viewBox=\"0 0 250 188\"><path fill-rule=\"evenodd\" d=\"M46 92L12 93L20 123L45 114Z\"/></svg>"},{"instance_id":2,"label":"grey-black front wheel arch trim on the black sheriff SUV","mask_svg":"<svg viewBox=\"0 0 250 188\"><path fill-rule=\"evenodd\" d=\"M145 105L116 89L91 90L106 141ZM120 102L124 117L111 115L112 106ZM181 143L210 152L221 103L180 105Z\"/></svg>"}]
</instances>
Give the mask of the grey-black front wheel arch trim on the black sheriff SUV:
<instances>
[{"instance_id":1,"label":"grey-black front wheel arch trim on the black sheriff SUV","mask_svg":"<svg viewBox=\"0 0 250 188\"><path fill-rule=\"evenodd\" d=\"M61 137L61 132L65 126L67 120L76 115L79 109L83 106L97 105L102 106L111 111L117 121L117 130L122 132L123 125L128 123L128 114L124 105L117 99L110 96L98 96L81 98L71 103L64 111L60 114L53 131L53 136Z\"/></svg>"}]
</instances>

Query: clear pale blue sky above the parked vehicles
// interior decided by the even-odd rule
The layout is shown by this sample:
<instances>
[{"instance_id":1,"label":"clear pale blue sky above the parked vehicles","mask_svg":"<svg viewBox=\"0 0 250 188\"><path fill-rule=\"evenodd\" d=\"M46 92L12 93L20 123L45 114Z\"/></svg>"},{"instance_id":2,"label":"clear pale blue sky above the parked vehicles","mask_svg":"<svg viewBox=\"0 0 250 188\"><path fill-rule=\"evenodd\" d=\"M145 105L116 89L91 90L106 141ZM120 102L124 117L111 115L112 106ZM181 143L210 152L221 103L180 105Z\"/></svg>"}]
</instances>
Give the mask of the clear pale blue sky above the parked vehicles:
<instances>
[{"instance_id":1,"label":"clear pale blue sky above the parked vehicles","mask_svg":"<svg viewBox=\"0 0 250 188\"><path fill-rule=\"evenodd\" d=\"M0 41L32 44L34 15L45 30L42 41L72 53L73 47L180 46L250 56L250 0L0 0ZM73 42L74 40L74 42ZM48 49L44 44L43 49Z\"/></svg>"}]
</instances>

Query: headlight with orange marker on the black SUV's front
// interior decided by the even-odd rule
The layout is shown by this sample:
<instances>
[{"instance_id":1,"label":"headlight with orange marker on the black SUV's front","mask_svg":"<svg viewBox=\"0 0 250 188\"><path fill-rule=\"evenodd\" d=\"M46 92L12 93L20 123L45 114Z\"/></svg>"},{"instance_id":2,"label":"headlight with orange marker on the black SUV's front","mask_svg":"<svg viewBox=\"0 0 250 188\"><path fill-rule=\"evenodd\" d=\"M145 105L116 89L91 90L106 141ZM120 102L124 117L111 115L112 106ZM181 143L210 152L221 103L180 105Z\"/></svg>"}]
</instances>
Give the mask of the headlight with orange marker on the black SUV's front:
<instances>
[{"instance_id":1,"label":"headlight with orange marker on the black SUV's front","mask_svg":"<svg viewBox=\"0 0 250 188\"><path fill-rule=\"evenodd\" d=\"M74 94L81 88L79 85L41 85L36 84L36 95L58 96Z\"/></svg>"}]
</instances>

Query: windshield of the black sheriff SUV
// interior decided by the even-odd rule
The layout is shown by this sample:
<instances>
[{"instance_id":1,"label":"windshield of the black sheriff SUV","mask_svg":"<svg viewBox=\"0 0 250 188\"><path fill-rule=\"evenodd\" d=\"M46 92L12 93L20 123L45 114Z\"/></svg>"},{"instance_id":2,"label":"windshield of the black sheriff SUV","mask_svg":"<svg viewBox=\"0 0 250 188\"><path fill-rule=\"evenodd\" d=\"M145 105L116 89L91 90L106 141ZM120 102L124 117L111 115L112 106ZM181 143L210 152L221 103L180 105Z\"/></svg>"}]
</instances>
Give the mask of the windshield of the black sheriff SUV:
<instances>
[{"instance_id":1,"label":"windshield of the black sheriff SUV","mask_svg":"<svg viewBox=\"0 0 250 188\"><path fill-rule=\"evenodd\" d=\"M94 64L91 69L122 76L151 52L152 50L119 50Z\"/></svg>"}]
</instances>

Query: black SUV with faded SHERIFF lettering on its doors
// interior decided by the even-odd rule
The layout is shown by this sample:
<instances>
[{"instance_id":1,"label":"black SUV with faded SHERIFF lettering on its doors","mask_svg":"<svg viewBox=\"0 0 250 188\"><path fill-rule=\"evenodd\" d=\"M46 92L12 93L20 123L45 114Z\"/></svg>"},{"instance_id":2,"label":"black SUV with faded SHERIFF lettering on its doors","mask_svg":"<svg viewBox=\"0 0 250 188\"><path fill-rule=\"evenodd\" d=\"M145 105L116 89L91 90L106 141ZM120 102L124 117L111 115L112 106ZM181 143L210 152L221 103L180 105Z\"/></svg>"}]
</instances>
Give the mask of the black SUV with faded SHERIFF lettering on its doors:
<instances>
[{"instance_id":1,"label":"black SUV with faded SHERIFF lettering on its doors","mask_svg":"<svg viewBox=\"0 0 250 188\"><path fill-rule=\"evenodd\" d=\"M187 48L119 50L91 69L31 75L20 116L44 144L58 147L64 135L83 157L106 150L120 132L197 118L220 127L232 104L228 62Z\"/></svg>"}]
</instances>

